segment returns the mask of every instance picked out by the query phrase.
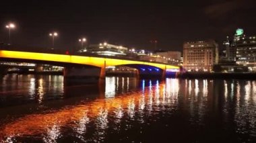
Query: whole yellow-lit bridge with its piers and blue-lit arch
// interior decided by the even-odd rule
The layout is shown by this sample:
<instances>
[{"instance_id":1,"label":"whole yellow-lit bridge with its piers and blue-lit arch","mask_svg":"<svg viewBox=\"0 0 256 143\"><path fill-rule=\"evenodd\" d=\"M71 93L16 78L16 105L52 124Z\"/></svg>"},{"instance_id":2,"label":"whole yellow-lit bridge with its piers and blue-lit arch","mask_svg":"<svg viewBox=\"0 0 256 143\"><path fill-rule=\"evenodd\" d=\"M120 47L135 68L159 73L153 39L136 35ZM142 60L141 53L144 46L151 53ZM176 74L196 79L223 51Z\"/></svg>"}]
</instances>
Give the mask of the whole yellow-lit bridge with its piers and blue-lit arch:
<instances>
[{"instance_id":1,"label":"whole yellow-lit bridge with its piers and blue-lit arch","mask_svg":"<svg viewBox=\"0 0 256 143\"><path fill-rule=\"evenodd\" d=\"M138 75L164 76L179 72L179 66L119 57L82 56L0 50L0 61L32 62L64 66L64 77L104 77L107 66L129 66L138 70Z\"/></svg>"}]
</instances>

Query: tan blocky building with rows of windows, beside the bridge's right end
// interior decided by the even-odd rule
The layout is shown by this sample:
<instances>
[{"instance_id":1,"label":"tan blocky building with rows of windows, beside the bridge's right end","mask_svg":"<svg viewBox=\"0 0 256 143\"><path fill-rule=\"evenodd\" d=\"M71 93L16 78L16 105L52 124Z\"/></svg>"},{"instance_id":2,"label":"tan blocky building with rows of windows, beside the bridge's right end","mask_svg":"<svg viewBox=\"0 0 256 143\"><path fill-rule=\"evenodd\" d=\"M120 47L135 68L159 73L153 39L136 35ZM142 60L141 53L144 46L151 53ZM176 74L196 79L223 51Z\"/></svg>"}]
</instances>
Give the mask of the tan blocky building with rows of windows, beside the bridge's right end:
<instances>
[{"instance_id":1,"label":"tan blocky building with rows of windows, beside the bridge's right end","mask_svg":"<svg viewBox=\"0 0 256 143\"><path fill-rule=\"evenodd\" d=\"M212 71L218 64L218 44L214 40L185 42L183 68L187 71Z\"/></svg>"}]
</instances>

